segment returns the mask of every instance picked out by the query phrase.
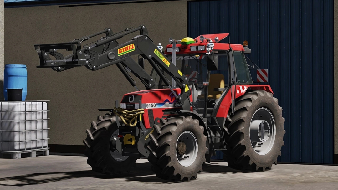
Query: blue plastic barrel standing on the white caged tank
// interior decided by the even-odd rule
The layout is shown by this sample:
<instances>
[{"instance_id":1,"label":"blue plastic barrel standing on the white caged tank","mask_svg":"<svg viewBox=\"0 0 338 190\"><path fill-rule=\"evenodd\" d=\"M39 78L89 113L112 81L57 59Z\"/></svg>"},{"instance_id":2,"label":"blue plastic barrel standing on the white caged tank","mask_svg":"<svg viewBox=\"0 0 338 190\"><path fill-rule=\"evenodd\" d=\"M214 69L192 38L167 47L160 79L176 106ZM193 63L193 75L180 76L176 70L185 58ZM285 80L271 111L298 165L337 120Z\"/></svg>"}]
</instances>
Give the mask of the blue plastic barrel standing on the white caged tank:
<instances>
[{"instance_id":1,"label":"blue plastic barrel standing on the white caged tank","mask_svg":"<svg viewBox=\"0 0 338 190\"><path fill-rule=\"evenodd\" d=\"M3 95L5 101L7 98L8 89L22 89L22 100L26 100L27 95L27 67L26 65L5 65L3 73Z\"/></svg>"}]
</instances>

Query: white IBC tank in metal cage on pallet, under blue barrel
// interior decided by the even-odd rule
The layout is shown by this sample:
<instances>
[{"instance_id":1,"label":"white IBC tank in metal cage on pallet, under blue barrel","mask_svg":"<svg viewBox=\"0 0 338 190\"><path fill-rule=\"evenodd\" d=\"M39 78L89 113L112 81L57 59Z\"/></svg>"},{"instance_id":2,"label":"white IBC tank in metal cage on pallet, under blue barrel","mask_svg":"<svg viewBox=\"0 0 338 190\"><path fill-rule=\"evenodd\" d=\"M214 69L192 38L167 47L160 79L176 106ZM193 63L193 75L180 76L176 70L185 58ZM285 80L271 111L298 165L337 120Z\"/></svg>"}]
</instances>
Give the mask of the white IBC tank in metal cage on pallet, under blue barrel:
<instances>
[{"instance_id":1,"label":"white IBC tank in metal cage on pallet, under blue barrel","mask_svg":"<svg viewBox=\"0 0 338 190\"><path fill-rule=\"evenodd\" d=\"M49 155L48 148L48 102L0 101L0 157L11 154L12 159L22 153L36 157L37 151Z\"/></svg>"}]
</instances>

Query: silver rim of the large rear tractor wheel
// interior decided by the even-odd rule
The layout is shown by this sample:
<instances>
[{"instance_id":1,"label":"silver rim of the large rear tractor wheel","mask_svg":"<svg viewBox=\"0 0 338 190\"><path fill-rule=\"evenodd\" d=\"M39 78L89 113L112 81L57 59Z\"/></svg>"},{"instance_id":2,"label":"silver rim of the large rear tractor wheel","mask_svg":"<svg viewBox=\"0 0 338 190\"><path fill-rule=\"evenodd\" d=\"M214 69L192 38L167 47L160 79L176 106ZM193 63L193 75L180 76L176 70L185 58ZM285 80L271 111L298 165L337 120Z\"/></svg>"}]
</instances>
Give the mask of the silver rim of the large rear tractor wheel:
<instances>
[{"instance_id":1,"label":"silver rim of the large rear tractor wheel","mask_svg":"<svg viewBox=\"0 0 338 190\"><path fill-rule=\"evenodd\" d=\"M276 137L276 124L270 110L260 108L251 118L250 142L259 155L266 155L273 147Z\"/></svg>"}]
</instances>

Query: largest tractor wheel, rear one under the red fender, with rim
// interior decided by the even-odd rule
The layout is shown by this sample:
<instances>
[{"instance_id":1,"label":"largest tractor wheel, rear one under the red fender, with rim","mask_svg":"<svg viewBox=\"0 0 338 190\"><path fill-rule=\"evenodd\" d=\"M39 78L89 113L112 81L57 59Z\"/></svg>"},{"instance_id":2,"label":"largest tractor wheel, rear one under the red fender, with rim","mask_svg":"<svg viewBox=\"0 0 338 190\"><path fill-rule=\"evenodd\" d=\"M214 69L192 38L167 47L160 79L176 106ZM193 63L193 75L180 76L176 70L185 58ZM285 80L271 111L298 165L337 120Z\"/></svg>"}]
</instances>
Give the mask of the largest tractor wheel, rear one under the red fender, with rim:
<instances>
[{"instance_id":1,"label":"largest tractor wheel, rear one under the red fender, with rim","mask_svg":"<svg viewBox=\"0 0 338 190\"><path fill-rule=\"evenodd\" d=\"M278 100L271 93L247 92L236 100L235 113L229 113L227 118L230 119L224 126L227 150L223 151L223 160L229 167L264 171L277 164L284 145L285 119Z\"/></svg>"}]
</instances>

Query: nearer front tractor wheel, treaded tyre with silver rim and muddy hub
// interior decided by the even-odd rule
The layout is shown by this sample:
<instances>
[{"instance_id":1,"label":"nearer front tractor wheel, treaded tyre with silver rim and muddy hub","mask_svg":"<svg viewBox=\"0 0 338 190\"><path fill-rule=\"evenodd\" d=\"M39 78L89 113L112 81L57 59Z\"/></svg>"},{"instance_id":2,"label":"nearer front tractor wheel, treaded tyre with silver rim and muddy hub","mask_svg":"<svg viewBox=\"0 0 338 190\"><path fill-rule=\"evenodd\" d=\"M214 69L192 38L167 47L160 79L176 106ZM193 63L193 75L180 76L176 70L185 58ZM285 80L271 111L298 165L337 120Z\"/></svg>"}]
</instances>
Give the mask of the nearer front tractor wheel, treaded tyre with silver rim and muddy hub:
<instances>
[{"instance_id":1,"label":"nearer front tractor wheel, treaded tyre with silver rim and muddy hub","mask_svg":"<svg viewBox=\"0 0 338 190\"><path fill-rule=\"evenodd\" d=\"M206 162L207 137L203 133L204 127L191 116L160 119L147 146L156 176L175 181L196 179Z\"/></svg>"}]
</instances>

